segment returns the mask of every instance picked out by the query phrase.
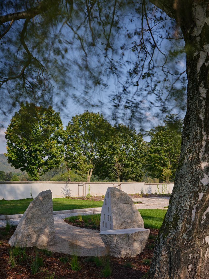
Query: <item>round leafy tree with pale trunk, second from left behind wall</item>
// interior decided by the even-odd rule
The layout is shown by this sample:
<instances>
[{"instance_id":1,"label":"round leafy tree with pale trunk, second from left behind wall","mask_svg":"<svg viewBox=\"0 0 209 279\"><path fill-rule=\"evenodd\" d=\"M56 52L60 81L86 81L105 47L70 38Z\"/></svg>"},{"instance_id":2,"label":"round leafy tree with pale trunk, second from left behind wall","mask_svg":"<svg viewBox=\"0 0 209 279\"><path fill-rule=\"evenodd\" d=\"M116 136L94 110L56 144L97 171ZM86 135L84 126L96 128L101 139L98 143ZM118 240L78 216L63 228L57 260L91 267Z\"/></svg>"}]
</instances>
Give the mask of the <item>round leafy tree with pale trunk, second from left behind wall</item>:
<instances>
[{"instance_id":1,"label":"round leafy tree with pale trunk, second from left behind wall","mask_svg":"<svg viewBox=\"0 0 209 279\"><path fill-rule=\"evenodd\" d=\"M104 160L108 150L108 131L111 125L102 114L84 112L72 117L66 128L65 159L70 168L78 169L80 158L85 158L89 167L87 181L91 179L93 169Z\"/></svg>"}]
</instances>

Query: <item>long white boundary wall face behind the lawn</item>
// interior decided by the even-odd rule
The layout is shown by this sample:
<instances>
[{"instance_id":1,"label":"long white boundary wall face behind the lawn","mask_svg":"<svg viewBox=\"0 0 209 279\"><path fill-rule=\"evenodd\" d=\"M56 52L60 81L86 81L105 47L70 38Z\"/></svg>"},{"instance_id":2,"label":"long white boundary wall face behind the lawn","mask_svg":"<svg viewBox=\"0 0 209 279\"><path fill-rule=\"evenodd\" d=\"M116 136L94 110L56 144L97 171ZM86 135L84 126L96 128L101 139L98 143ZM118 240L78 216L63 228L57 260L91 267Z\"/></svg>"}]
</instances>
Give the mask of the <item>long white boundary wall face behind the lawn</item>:
<instances>
[{"instance_id":1,"label":"long white boundary wall face behind the lawn","mask_svg":"<svg viewBox=\"0 0 209 279\"><path fill-rule=\"evenodd\" d=\"M0 182L0 199L25 199L30 198L30 189L35 198L41 191L50 189L53 198L63 198L66 196L78 196L78 183L81 182L54 182L54 181L17 181ZM105 195L108 187L117 185L115 182L90 182L90 194L92 196ZM159 190L162 194L162 183L159 183ZM169 183L169 193L172 192L173 183ZM157 183L144 182L121 182L121 190L127 194L140 193L158 193ZM165 191L167 193L167 190ZM86 194L88 194L88 183L86 183ZM82 196L82 186L79 186L79 196Z\"/></svg>"}]
</instances>

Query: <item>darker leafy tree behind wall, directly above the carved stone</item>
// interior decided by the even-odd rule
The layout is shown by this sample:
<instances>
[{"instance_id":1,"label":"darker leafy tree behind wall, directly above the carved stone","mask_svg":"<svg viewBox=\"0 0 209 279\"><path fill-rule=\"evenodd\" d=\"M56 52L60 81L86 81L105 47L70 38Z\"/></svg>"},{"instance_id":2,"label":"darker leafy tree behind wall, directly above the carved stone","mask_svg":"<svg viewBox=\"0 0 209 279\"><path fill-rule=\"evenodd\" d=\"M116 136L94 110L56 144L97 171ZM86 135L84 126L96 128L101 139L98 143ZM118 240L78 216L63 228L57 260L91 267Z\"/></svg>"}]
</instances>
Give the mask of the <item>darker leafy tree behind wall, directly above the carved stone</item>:
<instances>
[{"instance_id":1,"label":"darker leafy tree behind wall, directly above the carved stone","mask_svg":"<svg viewBox=\"0 0 209 279\"><path fill-rule=\"evenodd\" d=\"M142 134L128 126L118 124L114 127L114 135L110 146L110 155L102 162L97 170L101 177L117 177L115 163L120 165L120 182L125 180L141 181L144 177L146 143Z\"/></svg>"}]
</instances>

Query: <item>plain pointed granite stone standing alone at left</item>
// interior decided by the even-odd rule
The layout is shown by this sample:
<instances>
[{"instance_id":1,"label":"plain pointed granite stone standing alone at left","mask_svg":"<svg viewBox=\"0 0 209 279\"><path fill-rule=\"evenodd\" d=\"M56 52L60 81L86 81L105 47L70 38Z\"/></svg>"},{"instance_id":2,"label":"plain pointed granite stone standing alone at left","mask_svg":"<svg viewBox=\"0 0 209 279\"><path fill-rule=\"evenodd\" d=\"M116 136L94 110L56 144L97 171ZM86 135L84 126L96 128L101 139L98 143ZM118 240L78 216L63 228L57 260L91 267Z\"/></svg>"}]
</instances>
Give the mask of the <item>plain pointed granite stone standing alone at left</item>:
<instances>
[{"instance_id":1,"label":"plain pointed granite stone standing alone at left","mask_svg":"<svg viewBox=\"0 0 209 279\"><path fill-rule=\"evenodd\" d=\"M54 217L51 190L42 191L31 201L9 239L9 245L44 247L54 244Z\"/></svg>"}]
</instances>

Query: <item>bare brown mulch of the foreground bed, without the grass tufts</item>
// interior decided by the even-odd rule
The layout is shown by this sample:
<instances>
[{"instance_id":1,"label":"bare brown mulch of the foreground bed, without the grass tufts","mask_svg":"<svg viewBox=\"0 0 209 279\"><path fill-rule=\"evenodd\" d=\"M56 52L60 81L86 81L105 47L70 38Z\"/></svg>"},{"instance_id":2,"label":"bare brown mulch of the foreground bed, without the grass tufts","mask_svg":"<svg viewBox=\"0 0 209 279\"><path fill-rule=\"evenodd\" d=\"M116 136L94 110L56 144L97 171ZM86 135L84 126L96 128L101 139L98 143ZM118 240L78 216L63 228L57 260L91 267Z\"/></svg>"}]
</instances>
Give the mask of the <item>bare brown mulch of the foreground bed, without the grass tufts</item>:
<instances>
[{"instance_id":1,"label":"bare brown mulch of the foreground bed, without the grass tufts","mask_svg":"<svg viewBox=\"0 0 209 279\"><path fill-rule=\"evenodd\" d=\"M102 267L97 267L94 262L88 262L89 257L78 257L82 269L80 271L72 271L69 263L62 263L59 258L62 256L71 256L53 252L51 256L46 256L43 252L38 251L38 254L43 258L43 267L35 275L31 274L30 265L32 259L35 258L35 248L26 248L27 259L19 263L14 268L8 266L9 262L9 249L8 240L14 233L15 228L11 228L10 232L6 233L5 228L0 229L0 278L13 279L13 278L50 278L55 272L54 279L61 278L82 278L82 279L98 279L104 278L102 275ZM157 229L150 229L150 235L157 235ZM135 258L113 258L108 257L112 274L110 279L140 279L149 270L149 265L144 264L144 259L151 259L154 249L149 249L148 246L153 244L155 239L148 239L146 247L142 254ZM132 267L127 268L126 263L132 263ZM53 277L51 277L53 278Z\"/></svg>"}]
</instances>

